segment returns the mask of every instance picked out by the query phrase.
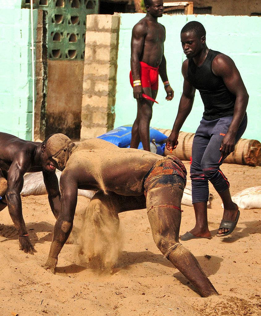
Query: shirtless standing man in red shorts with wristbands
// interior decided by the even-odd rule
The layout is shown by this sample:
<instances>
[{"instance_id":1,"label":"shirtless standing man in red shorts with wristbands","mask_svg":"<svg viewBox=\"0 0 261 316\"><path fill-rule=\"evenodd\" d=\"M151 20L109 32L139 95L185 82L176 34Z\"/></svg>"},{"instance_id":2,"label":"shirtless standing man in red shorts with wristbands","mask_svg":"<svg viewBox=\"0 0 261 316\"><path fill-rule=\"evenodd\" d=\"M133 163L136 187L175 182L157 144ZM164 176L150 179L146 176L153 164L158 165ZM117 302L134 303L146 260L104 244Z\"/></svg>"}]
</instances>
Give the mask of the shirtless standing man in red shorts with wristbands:
<instances>
[{"instance_id":1,"label":"shirtless standing man in red shorts with wristbands","mask_svg":"<svg viewBox=\"0 0 261 316\"><path fill-rule=\"evenodd\" d=\"M163 15L163 0L144 0L147 14L132 30L130 82L133 96L137 100L137 117L132 127L131 148L138 148L140 141L144 150L150 151L150 121L153 102L142 97L142 93L156 99L158 75L160 75L166 100L173 99L164 56L165 27L158 23Z\"/></svg>"}]
</instances>

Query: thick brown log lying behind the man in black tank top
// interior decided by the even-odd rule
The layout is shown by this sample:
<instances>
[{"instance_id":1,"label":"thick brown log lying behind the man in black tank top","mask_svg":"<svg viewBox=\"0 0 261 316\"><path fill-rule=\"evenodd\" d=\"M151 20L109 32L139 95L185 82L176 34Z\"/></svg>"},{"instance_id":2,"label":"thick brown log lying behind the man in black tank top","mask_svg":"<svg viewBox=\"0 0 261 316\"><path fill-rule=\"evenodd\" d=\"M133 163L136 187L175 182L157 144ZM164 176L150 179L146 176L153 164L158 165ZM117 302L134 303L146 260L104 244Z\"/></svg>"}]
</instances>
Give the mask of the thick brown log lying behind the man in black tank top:
<instances>
[{"instance_id":1,"label":"thick brown log lying behind the man in black tank top","mask_svg":"<svg viewBox=\"0 0 261 316\"><path fill-rule=\"evenodd\" d=\"M171 130L156 128L166 136ZM172 154L165 149L164 155L175 155L181 160L190 160L192 142L195 133L179 132L178 145ZM225 160L225 163L235 163L239 165L261 166L261 143L255 139L240 138L235 146L235 150Z\"/></svg>"}]
</instances>

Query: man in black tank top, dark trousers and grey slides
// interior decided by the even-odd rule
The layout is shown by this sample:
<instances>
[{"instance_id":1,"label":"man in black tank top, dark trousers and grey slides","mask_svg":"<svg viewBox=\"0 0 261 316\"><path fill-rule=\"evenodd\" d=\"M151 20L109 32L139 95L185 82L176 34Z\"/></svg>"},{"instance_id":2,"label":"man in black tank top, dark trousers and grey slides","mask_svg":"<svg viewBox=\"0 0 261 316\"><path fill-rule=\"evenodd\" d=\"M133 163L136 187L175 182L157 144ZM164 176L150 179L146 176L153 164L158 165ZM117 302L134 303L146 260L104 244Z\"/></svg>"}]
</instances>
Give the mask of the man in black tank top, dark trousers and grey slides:
<instances>
[{"instance_id":1,"label":"man in black tank top, dark trousers and grey slides","mask_svg":"<svg viewBox=\"0 0 261 316\"><path fill-rule=\"evenodd\" d=\"M211 238L207 217L208 181L224 204L217 232L217 236L223 237L232 233L240 212L231 199L229 182L220 166L245 131L248 94L233 60L208 49L201 23L187 23L181 30L181 43L187 56L182 65L183 93L167 149L177 147L178 134L192 109L196 89L204 104L203 118L193 140L190 167L196 225L181 236L181 240Z\"/></svg>"}]
</instances>

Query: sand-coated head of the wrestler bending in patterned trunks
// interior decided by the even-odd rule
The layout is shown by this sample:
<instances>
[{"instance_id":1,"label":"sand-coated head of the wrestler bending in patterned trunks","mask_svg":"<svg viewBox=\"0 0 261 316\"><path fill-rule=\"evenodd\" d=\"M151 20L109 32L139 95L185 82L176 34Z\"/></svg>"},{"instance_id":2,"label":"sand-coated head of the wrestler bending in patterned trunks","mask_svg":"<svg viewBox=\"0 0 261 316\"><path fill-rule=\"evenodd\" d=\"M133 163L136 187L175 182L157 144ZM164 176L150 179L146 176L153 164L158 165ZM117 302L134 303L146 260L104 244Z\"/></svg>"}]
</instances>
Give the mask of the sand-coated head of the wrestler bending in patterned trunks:
<instances>
[{"instance_id":1,"label":"sand-coated head of the wrestler bending in patterned trunks","mask_svg":"<svg viewBox=\"0 0 261 316\"><path fill-rule=\"evenodd\" d=\"M58 166L57 168L63 171L66 162L71 153L77 148L77 145L69 137L61 133L49 135L45 141L48 158L53 159Z\"/></svg>"}]
</instances>

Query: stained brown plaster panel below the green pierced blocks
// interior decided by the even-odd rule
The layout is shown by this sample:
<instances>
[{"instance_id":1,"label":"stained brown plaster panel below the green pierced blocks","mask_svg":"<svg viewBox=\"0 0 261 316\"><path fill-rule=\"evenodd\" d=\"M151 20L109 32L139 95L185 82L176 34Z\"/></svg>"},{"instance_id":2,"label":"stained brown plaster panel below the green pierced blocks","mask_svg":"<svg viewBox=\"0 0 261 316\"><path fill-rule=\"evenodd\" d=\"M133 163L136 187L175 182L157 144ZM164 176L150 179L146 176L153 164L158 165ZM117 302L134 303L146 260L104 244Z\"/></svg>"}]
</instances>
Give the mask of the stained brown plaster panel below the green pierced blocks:
<instances>
[{"instance_id":1,"label":"stained brown plaster panel below the green pierced blocks","mask_svg":"<svg viewBox=\"0 0 261 316\"><path fill-rule=\"evenodd\" d=\"M48 60L45 136L63 133L80 138L83 60Z\"/></svg>"}]
</instances>

